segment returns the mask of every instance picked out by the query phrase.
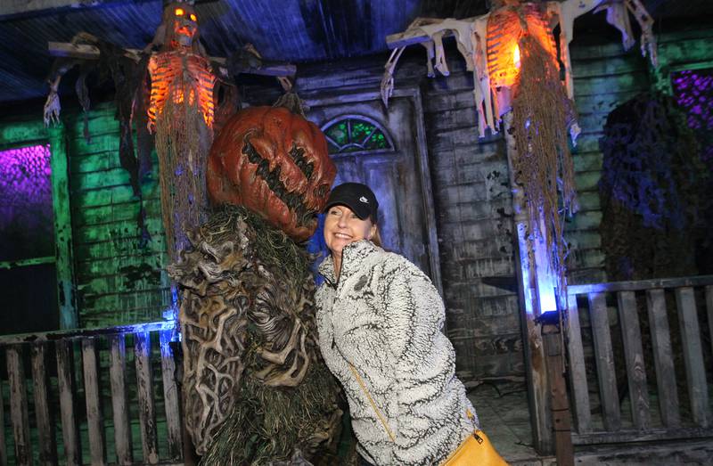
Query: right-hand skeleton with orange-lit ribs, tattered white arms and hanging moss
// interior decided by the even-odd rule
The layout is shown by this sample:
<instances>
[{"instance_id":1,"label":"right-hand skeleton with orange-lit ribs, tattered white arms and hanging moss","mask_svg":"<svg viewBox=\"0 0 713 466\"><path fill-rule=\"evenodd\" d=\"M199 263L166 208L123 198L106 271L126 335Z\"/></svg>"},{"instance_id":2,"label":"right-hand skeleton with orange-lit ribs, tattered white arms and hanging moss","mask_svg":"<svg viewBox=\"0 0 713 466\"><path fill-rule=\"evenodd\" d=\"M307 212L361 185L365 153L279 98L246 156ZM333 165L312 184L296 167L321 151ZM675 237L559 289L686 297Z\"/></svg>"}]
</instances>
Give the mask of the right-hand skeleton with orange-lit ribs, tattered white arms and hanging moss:
<instances>
[{"instance_id":1,"label":"right-hand skeleton with orange-lit ribs, tattered white arms and hanging moss","mask_svg":"<svg viewBox=\"0 0 713 466\"><path fill-rule=\"evenodd\" d=\"M557 289L563 297L567 248L561 217L577 210L574 166L567 141L568 129L573 143L579 133L571 101L574 89L569 44L573 22L594 8L606 9L607 20L621 31L628 49L634 44L628 14L631 12L642 29L642 53L648 54L655 65L652 19L640 0L498 0L493 6L488 14L469 20L414 20L389 44L395 48L385 65L381 98L388 105L394 69L408 44L427 41L427 50L433 50L427 55L429 75L433 73L431 60L436 61L436 69L447 75L441 41L444 34L453 34L467 69L473 73L479 135L485 136L486 128L496 133L497 120L512 110L512 128L506 129L512 129L517 146L517 151L510 154L515 182L525 194L530 232L545 242L547 266L557 276ZM558 24L559 51L553 37ZM564 85L558 59L564 64Z\"/></svg>"}]
</instances>

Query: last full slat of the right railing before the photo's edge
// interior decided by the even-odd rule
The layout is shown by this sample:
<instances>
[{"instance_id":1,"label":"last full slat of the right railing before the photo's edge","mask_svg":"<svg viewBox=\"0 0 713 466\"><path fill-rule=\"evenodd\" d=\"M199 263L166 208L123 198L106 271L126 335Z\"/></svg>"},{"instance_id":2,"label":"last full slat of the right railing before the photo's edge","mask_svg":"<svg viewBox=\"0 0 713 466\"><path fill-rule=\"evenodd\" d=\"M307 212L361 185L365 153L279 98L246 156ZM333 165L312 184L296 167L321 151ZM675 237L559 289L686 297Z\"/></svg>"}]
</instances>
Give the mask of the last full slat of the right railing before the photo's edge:
<instances>
[{"instance_id":1,"label":"last full slat of the right railing before the photo's edge","mask_svg":"<svg viewBox=\"0 0 713 466\"><path fill-rule=\"evenodd\" d=\"M706 382L706 367L703 364L701 330L698 325L693 288L676 288L676 307L678 308L678 323L681 327L681 341L684 346L685 375L688 382L688 395L691 399L693 422L701 427L708 427L708 384Z\"/></svg>"}]
</instances>

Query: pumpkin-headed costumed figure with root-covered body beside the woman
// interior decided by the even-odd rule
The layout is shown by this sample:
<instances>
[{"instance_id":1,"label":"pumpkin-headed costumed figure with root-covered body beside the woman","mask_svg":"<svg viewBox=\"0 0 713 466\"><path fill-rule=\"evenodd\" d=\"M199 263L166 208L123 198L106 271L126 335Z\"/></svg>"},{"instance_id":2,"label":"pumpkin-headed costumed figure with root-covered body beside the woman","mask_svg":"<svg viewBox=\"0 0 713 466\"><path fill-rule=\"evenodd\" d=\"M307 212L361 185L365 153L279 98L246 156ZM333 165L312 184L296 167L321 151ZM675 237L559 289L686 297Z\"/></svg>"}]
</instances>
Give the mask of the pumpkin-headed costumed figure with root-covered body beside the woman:
<instances>
[{"instance_id":1,"label":"pumpkin-headed costumed figure with root-covered body beside the woman","mask_svg":"<svg viewBox=\"0 0 713 466\"><path fill-rule=\"evenodd\" d=\"M335 437L340 388L316 347L302 244L335 176L322 132L281 106L242 110L213 144L209 197L224 206L169 266L184 422L204 464L309 464Z\"/></svg>"}]
</instances>

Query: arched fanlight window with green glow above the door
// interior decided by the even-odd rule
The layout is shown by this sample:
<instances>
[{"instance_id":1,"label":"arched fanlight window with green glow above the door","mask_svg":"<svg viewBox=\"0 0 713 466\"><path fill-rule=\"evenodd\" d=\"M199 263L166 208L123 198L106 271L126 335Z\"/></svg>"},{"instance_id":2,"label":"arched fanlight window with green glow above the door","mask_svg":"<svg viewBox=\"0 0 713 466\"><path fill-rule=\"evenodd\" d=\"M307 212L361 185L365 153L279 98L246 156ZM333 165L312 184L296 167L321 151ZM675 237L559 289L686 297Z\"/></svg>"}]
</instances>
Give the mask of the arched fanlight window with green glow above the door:
<instances>
[{"instance_id":1,"label":"arched fanlight window with green glow above the door","mask_svg":"<svg viewBox=\"0 0 713 466\"><path fill-rule=\"evenodd\" d=\"M322 127L329 153L361 151L394 151L391 136L379 123L364 115L347 115L333 119Z\"/></svg>"}]
</instances>

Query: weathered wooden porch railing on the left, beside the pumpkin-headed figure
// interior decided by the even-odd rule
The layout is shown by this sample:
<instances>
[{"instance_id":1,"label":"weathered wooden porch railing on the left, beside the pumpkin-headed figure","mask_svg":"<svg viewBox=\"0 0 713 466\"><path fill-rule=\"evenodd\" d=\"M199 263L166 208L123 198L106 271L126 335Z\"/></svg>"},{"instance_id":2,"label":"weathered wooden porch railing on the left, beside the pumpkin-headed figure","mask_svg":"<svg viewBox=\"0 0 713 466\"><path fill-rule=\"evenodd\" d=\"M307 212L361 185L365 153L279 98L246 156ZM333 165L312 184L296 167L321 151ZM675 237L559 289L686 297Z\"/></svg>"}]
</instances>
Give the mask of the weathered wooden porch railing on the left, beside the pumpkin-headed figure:
<instances>
[{"instance_id":1,"label":"weathered wooden porch railing on the left, beside the pumpkin-headed figure","mask_svg":"<svg viewBox=\"0 0 713 466\"><path fill-rule=\"evenodd\" d=\"M0 337L0 464L181 463L173 327Z\"/></svg>"}]
</instances>

